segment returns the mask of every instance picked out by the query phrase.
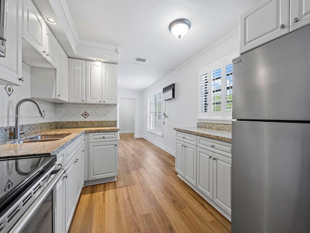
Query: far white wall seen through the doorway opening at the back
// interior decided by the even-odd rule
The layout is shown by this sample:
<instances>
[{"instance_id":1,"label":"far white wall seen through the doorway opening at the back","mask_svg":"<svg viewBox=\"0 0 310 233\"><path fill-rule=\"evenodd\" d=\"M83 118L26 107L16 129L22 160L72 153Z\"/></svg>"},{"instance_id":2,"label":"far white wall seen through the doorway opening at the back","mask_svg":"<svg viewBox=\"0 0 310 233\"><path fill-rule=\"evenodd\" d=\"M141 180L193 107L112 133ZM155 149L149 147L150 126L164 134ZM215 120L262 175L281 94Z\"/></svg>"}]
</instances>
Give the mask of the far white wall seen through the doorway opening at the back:
<instances>
[{"instance_id":1,"label":"far white wall seen through the doorway opening at the back","mask_svg":"<svg viewBox=\"0 0 310 233\"><path fill-rule=\"evenodd\" d=\"M135 99L119 99L120 133L135 133Z\"/></svg>"}]
</instances>

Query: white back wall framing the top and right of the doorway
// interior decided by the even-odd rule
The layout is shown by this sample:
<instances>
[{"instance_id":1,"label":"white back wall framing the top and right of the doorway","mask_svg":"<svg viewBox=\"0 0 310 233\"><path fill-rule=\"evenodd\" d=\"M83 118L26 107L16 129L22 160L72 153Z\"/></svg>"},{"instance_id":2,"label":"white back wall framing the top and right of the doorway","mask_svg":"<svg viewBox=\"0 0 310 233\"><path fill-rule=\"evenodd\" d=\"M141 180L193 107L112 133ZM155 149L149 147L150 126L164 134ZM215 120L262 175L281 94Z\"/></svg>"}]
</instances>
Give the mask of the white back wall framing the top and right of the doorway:
<instances>
[{"instance_id":1,"label":"white back wall framing the top and right of the doorway","mask_svg":"<svg viewBox=\"0 0 310 233\"><path fill-rule=\"evenodd\" d=\"M142 114L142 94L142 92L138 91L118 91L119 99L135 100L135 138L143 137L142 117L144 114Z\"/></svg>"}]
</instances>

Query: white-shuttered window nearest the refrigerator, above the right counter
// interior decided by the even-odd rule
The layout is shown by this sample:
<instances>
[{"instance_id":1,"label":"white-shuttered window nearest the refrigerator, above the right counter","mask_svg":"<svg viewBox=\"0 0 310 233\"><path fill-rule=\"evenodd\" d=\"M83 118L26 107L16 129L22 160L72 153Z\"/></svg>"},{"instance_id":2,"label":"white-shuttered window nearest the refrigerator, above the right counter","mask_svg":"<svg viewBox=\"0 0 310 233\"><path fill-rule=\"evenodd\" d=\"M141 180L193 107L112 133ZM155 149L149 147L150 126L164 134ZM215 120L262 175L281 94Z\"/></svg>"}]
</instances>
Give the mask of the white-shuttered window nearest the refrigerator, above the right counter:
<instances>
[{"instance_id":1,"label":"white-shuttered window nearest the refrigerator, above the right counter","mask_svg":"<svg viewBox=\"0 0 310 233\"><path fill-rule=\"evenodd\" d=\"M205 67L199 71L200 112L199 116L231 117L233 110L233 58Z\"/></svg>"}]
</instances>

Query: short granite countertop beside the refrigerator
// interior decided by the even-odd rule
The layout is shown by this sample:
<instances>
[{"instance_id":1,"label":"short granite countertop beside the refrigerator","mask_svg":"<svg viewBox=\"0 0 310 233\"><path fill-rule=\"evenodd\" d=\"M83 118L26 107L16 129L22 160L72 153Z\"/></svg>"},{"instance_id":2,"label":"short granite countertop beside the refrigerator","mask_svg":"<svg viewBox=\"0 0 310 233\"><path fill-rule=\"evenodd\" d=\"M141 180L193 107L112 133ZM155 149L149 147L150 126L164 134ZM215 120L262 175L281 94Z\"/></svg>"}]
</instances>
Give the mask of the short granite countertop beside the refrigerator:
<instances>
[{"instance_id":1,"label":"short granite countertop beside the refrigerator","mask_svg":"<svg viewBox=\"0 0 310 233\"><path fill-rule=\"evenodd\" d=\"M232 143L232 132L225 130L214 130L201 127L173 128L173 130L183 133L190 133L202 137L207 137L222 142Z\"/></svg>"}]
</instances>

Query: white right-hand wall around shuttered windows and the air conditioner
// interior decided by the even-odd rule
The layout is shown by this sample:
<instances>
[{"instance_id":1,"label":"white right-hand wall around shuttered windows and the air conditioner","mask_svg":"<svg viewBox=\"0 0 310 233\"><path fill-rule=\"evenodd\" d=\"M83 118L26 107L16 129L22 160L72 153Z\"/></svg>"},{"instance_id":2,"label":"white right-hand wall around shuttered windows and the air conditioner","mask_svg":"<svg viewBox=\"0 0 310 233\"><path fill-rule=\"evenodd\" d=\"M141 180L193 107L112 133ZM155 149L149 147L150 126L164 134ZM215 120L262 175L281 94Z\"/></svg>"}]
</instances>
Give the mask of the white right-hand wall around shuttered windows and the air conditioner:
<instances>
[{"instance_id":1,"label":"white right-hand wall around shuttered windows and the air conditioner","mask_svg":"<svg viewBox=\"0 0 310 233\"><path fill-rule=\"evenodd\" d=\"M222 41L219 41L218 44L202 51L202 53L188 61L185 66L181 66L180 70L171 73L146 89L143 92L143 137L174 156L175 131L173 127L194 127L197 125L199 105L198 71L238 50L239 33L234 31L224 37ZM166 102L168 118L165 119L166 124L163 125L163 136L159 136L147 131L147 97L171 83L176 83L176 99Z\"/></svg>"}]
</instances>

